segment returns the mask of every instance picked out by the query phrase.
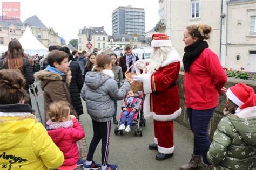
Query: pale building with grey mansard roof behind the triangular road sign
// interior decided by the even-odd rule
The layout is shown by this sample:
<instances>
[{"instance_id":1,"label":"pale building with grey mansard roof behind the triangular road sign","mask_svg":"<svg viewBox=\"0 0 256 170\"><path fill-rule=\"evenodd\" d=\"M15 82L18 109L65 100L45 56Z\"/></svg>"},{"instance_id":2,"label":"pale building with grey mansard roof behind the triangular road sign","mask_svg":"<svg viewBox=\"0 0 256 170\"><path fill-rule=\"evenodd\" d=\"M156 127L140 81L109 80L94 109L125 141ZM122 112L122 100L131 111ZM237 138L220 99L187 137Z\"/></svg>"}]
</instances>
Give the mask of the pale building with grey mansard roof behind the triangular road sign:
<instances>
[{"instance_id":1,"label":"pale building with grey mansard roof behind the triangular road sign","mask_svg":"<svg viewBox=\"0 0 256 170\"><path fill-rule=\"evenodd\" d=\"M103 26L79 29L78 50L92 51L93 48L98 48L98 50L106 49L107 41L108 36ZM89 42L92 44L91 49L87 47Z\"/></svg>"}]
</instances>

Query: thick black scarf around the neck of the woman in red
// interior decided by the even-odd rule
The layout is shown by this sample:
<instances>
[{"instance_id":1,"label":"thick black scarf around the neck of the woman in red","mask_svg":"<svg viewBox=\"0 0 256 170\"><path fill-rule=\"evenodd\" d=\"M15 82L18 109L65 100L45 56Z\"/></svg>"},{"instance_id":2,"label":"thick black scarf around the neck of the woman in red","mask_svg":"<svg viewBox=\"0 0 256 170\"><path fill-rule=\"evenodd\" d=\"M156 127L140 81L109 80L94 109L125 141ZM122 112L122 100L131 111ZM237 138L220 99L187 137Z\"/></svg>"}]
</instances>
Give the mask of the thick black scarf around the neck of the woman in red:
<instances>
[{"instance_id":1,"label":"thick black scarf around the neck of the woman in red","mask_svg":"<svg viewBox=\"0 0 256 170\"><path fill-rule=\"evenodd\" d=\"M197 41L189 46L184 48L184 55L183 55L183 66L185 72L190 72L190 65L200 56L201 52L204 51L205 48L208 48L209 45L206 41Z\"/></svg>"}]
</instances>

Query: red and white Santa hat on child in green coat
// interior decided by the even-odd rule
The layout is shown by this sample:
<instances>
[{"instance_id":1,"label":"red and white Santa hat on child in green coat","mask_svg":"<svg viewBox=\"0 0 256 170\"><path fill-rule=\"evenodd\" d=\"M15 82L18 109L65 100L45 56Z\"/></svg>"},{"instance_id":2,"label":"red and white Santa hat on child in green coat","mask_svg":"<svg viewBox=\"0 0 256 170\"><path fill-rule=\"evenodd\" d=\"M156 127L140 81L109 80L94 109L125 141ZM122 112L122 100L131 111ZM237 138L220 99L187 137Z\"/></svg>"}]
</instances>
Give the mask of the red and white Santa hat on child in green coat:
<instances>
[{"instance_id":1,"label":"red and white Santa hat on child in green coat","mask_svg":"<svg viewBox=\"0 0 256 170\"><path fill-rule=\"evenodd\" d=\"M234 104L238 105L240 109L254 107L256 102L256 95L250 86L243 83L235 84L227 90L227 98Z\"/></svg>"}]
</instances>

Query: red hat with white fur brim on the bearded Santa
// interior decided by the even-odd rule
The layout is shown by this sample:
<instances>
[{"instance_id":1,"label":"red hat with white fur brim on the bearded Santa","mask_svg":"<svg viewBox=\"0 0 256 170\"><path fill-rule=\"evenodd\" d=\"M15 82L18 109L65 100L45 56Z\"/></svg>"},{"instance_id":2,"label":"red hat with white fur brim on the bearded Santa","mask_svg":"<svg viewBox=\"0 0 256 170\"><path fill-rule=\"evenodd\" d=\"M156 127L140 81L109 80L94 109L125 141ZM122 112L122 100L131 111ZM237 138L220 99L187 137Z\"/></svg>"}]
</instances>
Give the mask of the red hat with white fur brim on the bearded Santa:
<instances>
[{"instance_id":1,"label":"red hat with white fur brim on the bearded Santa","mask_svg":"<svg viewBox=\"0 0 256 170\"><path fill-rule=\"evenodd\" d=\"M172 47L172 41L165 34L153 34L151 47Z\"/></svg>"}]
</instances>

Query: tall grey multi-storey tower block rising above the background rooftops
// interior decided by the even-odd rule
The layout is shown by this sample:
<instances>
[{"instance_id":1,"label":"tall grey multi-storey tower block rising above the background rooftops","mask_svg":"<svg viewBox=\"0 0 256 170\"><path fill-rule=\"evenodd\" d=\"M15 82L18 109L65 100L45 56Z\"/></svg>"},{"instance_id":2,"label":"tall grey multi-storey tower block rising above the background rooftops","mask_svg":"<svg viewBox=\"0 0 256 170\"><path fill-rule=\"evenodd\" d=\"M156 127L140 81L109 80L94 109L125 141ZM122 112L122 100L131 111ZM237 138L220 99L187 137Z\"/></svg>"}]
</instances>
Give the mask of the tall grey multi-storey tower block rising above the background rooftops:
<instances>
[{"instance_id":1,"label":"tall grey multi-storey tower block rising above the background rooftops","mask_svg":"<svg viewBox=\"0 0 256 170\"><path fill-rule=\"evenodd\" d=\"M145 10L119 6L112 12L112 34L145 36Z\"/></svg>"}]
</instances>

